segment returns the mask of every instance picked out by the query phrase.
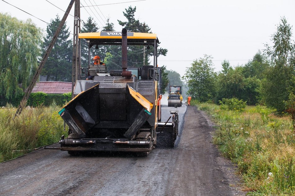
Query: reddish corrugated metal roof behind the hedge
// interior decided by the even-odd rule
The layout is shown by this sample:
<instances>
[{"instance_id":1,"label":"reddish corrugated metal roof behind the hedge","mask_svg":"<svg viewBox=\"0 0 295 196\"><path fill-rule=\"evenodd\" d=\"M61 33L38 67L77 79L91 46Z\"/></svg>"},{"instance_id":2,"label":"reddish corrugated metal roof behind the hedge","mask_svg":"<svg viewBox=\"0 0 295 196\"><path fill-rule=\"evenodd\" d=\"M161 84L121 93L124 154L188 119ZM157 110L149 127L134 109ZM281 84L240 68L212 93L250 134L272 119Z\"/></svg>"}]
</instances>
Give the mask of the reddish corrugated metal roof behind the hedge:
<instances>
[{"instance_id":1,"label":"reddish corrugated metal roof behind the hedge","mask_svg":"<svg viewBox=\"0 0 295 196\"><path fill-rule=\"evenodd\" d=\"M43 92L47 94L64 94L72 92L71 82L36 82L32 93Z\"/></svg>"}]
</instances>

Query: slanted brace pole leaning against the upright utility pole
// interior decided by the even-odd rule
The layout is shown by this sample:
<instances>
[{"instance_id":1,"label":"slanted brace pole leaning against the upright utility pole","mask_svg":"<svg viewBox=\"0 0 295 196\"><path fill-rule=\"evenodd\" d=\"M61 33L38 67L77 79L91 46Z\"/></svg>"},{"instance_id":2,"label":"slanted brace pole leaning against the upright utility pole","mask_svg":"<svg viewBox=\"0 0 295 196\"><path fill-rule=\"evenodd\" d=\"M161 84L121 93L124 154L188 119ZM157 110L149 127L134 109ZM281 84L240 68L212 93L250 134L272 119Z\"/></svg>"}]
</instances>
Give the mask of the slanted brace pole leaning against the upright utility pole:
<instances>
[{"instance_id":1,"label":"slanted brace pole leaning against the upright utility pole","mask_svg":"<svg viewBox=\"0 0 295 196\"><path fill-rule=\"evenodd\" d=\"M31 94L31 92L32 92L32 90L33 90L33 88L34 88L34 86L35 86L35 84L36 84L36 82L37 82L39 76L40 76L40 73L41 73L41 71L42 71L42 68L44 67L44 64L46 63L46 60L48 59L48 55L50 54L50 52L51 52L51 50L52 50L52 48L53 48L53 46L54 46L54 44L55 44L55 42L56 42L56 40L57 40L58 35L59 35L59 33L61 32L61 28L62 28L63 25L65 24L66 18L67 18L67 16L69 15L69 12L70 12L70 10L71 10L73 4L74 4L74 1L75 1L75 0L71 0L71 1L70 1L70 4L69 4L68 8L66 9L66 12L65 12L64 16L62 17L61 22L60 22L60 24L58 25L57 30L56 30L56 32L54 33L54 35L53 35L53 37L52 37L52 40L51 40L51 42L50 42L50 44L49 44L49 46L48 46L48 48L47 48L45 54L43 55L42 60L40 61L39 67L38 67L38 69L36 70L35 75L34 75L32 81L30 82L28 88L25 90L25 95L24 95L23 99L21 100L20 105L19 105L19 107L17 108L14 117L16 117L16 115L19 115L19 114L21 113L21 111L22 111L22 109L23 109L22 107L25 107L25 105L26 105L26 103L27 103L27 101L28 101L28 98L29 98L29 96L30 96L30 94ZM80 12L79 12L79 15L80 15ZM57 71L58 71L58 70L57 70Z\"/></svg>"}]
</instances>

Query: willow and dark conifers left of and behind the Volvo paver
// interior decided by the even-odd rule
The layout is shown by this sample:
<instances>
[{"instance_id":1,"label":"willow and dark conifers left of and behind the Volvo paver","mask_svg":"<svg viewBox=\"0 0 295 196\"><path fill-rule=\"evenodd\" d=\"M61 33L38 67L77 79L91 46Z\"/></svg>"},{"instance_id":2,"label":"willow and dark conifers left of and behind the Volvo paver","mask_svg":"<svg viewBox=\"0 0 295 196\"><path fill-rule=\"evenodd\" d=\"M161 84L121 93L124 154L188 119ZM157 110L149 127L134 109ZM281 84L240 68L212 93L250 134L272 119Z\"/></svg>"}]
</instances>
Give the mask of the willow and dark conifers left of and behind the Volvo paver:
<instances>
[{"instance_id":1,"label":"willow and dark conifers left of and behind the Volvo paver","mask_svg":"<svg viewBox=\"0 0 295 196\"><path fill-rule=\"evenodd\" d=\"M129 32L152 33L145 22L135 19L135 12L136 7L128 7L123 11L126 21L117 20L118 23ZM56 15L48 23L44 35L42 29L30 19L24 22L9 14L0 13L0 105L3 106L6 102L19 104L60 22L61 19ZM99 31L115 31L114 24L108 18L106 26L99 29L91 16L82 21L81 33ZM40 74L45 76L46 81L71 82L73 41L70 36L71 33L65 23ZM128 47L128 67L142 67L143 64L150 63L153 46L145 48L145 62L143 62L143 50L143 46ZM166 56L167 51L158 45L158 56ZM99 55L108 70L121 69L121 52L121 46L93 46L90 57ZM88 44L84 39L81 40L81 67L88 67ZM164 81L162 89L168 84L165 70L166 66L162 66Z\"/></svg>"}]
</instances>

